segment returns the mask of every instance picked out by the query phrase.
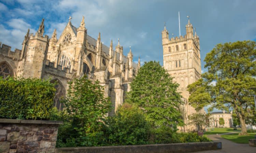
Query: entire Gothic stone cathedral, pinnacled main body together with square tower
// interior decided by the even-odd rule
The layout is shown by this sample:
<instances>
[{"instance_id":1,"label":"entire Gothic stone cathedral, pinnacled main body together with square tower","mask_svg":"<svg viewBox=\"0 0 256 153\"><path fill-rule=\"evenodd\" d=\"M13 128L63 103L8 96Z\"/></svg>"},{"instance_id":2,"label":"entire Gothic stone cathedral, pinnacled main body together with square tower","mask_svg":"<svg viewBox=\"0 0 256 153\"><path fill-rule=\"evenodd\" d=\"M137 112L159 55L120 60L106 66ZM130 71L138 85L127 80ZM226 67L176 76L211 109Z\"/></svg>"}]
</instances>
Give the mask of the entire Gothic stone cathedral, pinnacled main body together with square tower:
<instances>
[{"instance_id":1,"label":"entire Gothic stone cathedral, pinnacled main body together with square tower","mask_svg":"<svg viewBox=\"0 0 256 153\"><path fill-rule=\"evenodd\" d=\"M127 56L123 54L119 39L115 47L112 40L108 47L101 42L100 33L97 39L87 35L84 17L78 28L72 25L70 17L59 39L56 30L51 38L44 35L43 19L35 34L30 34L28 29L22 45L21 50L11 51L10 46L0 42L0 76L57 82L54 105L59 110L63 108L59 99L65 97L68 81L83 75L104 86L104 95L110 97L116 110L123 104L125 92L130 90L129 83L140 68L140 59L138 63L133 62L131 49ZM178 90L186 101L184 111L187 118L195 112L187 103L187 85L201 77L199 37L188 20L185 36L170 39L164 27L162 46L163 67L174 77L173 81L180 84Z\"/></svg>"}]
</instances>

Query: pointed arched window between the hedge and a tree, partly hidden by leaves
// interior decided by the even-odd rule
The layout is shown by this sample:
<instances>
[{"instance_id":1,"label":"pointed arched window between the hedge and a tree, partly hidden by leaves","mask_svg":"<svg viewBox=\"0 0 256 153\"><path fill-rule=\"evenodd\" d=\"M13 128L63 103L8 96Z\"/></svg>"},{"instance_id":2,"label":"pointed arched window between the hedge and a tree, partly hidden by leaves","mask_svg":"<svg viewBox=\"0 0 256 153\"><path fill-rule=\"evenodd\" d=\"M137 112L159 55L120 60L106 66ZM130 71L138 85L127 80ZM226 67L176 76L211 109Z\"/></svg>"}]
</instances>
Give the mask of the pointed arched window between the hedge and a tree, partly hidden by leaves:
<instances>
[{"instance_id":1,"label":"pointed arched window between the hedge and a tree, partly hidden by leaves","mask_svg":"<svg viewBox=\"0 0 256 153\"><path fill-rule=\"evenodd\" d=\"M57 107L57 109L61 111L64 105L63 103L60 103L60 100L65 98L65 89L58 79L52 80L51 83L56 83L54 86L56 91L53 99L53 106Z\"/></svg>"}]
</instances>

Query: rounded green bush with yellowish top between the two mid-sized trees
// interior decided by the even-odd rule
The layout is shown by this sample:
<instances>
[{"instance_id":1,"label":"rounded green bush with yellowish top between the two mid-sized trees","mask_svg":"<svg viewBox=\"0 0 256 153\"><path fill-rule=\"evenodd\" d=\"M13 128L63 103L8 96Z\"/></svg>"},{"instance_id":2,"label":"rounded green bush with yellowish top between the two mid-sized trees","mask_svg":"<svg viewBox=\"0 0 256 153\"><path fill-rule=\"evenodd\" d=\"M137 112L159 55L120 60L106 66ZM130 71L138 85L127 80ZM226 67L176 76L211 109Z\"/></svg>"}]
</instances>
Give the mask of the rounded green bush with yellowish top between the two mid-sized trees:
<instances>
[{"instance_id":1,"label":"rounded green bush with yellowish top between the two mid-sized trees","mask_svg":"<svg viewBox=\"0 0 256 153\"><path fill-rule=\"evenodd\" d=\"M150 125L134 104L123 104L108 120L109 145L143 145L148 143Z\"/></svg>"}]
</instances>

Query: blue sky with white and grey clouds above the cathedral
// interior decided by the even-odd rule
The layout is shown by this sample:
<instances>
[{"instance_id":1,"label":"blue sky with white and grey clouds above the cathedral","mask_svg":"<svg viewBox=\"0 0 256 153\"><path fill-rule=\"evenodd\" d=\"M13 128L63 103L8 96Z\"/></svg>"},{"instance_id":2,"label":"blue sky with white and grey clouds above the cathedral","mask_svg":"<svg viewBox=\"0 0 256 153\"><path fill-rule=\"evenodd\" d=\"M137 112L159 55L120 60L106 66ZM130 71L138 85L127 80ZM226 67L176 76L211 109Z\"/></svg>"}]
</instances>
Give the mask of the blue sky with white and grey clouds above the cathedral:
<instances>
[{"instance_id":1,"label":"blue sky with white and grey clouds above the cathedral","mask_svg":"<svg viewBox=\"0 0 256 153\"><path fill-rule=\"evenodd\" d=\"M80 25L85 16L89 35L105 45L117 38L124 46L124 54L132 47L133 59L156 60L162 65L161 31L166 22L167 30L179 34L178 11L180 11L181 34L185 34L186 16L196 28L200 38L202 71L204 57L218 43L256 39L255 0L0 0L0 41L21 49L27 28L38 30L45 18L45 34L51 36L57 29L60 36L69 16L72 24ZM171 37L171 36L170 36Z\"/></svg>"}]
</instances>

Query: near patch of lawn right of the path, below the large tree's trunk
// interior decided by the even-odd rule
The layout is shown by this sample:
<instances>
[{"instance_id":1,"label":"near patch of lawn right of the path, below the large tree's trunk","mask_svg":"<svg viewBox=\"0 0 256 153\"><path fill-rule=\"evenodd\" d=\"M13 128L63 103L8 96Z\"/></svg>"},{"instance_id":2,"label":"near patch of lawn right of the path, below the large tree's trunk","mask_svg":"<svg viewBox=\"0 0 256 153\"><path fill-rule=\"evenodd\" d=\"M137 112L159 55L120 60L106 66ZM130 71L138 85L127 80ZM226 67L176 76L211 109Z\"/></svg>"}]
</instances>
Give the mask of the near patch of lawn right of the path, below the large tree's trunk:
<instances>
[{"instance_id":1,"label":"near patch of lawn right of the path, below the large tree's trunk","mask_svg":"<svg viewBox=\"0 0 256 153\"><path fill-rule=\"evenodd\" d=\"M236 142L236 143L248 143L249 139L254 139L256 133L248 133L247 136L239 136L239 133L233 133L233 134L229 134L229 135L222 135L221 137Z\"/></svg>"}]
</instances>

